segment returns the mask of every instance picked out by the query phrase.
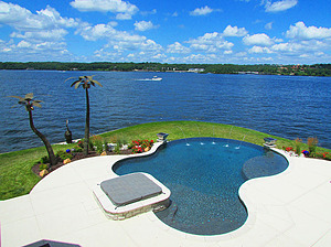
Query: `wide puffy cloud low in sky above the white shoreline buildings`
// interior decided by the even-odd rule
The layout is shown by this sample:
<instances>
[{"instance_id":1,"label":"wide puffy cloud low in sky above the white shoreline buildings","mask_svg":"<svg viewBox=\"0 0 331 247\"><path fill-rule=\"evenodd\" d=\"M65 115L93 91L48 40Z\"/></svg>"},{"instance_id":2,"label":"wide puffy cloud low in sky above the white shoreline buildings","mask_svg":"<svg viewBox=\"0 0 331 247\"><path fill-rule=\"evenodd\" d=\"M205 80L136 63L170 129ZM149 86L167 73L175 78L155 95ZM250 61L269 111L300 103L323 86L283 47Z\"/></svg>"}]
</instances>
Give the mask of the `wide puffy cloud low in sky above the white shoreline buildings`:
<instances>
[{"instance_id":1,"label":"wide puffy cloud low in sky above the white shoreline buildings","mask_svg":"<svg viewBox=\"0 0 331 247\"><path fill-rule=\"evenodd\" d=\"M215 53L220 50L231 50L233 43L225 41L221 33L205 33L203 36L188 41L190 47L195 51L204 51L207 53Z\"/></svg>"}]
</instances>

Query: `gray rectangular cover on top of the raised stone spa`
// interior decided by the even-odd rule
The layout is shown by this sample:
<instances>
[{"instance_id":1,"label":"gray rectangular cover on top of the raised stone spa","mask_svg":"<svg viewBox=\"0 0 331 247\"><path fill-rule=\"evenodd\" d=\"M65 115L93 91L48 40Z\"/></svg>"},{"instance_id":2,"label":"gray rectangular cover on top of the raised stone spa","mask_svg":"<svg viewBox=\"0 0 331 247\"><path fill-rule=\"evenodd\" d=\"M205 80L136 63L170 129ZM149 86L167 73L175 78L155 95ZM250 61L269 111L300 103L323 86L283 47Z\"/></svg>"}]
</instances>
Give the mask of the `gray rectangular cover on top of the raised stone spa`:
<instances>
[{"instance_id":1,"label":"gray rectangular cover on top of the raised stone spa","mask_svg":"<svg viewBox=\"0 0 331 247\"><path fill-rule=\"evenodd\" d=\"M162 189L142 173L121 175L100 183L102 190L116 206L152 197Z\"/></svg>"}]
</instances>

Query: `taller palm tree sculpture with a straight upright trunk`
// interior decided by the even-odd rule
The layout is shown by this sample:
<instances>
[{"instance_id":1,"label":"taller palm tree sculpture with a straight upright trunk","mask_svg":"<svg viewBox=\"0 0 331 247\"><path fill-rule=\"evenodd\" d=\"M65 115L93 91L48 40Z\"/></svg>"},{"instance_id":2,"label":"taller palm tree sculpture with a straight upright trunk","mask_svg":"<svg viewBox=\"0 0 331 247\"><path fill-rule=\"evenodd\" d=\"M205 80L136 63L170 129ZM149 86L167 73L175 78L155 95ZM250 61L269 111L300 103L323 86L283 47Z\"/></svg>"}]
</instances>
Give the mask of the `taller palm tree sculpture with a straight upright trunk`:
<instances>
[{"instance_id":1,"label":"taller palm tree sculpture with a straight upright trunk","mask_svg":"<svg viewBox=\"0 0 331 247\"><path fill-rule=\"evenodd\" d=\"M74 77L67 78L72 79ZM77 89L81 85L83 85L83 89L85 89L86 93L86 121L85 121L85 138L84 138L84 154L88 155L88 146L89 146L89 98L88 98L88 89L92 86L99 85L103 87L103 85L93 79L93 76L79 76L77 80L75 80L71 87L75 86L75 89Z\"/></svg>"}]
</instances>

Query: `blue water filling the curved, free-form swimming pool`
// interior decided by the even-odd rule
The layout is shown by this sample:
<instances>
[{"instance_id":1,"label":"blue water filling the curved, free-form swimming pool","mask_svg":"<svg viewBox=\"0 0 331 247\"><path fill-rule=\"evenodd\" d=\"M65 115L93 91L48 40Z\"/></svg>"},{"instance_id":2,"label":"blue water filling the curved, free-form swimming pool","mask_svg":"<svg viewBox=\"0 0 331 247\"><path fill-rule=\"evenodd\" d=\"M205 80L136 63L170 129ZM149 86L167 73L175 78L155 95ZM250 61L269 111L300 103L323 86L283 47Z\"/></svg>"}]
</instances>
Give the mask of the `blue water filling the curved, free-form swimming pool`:
<instances>
[{"instance_id":1,"label":"blue water filling the curved, free-form swimming pool","mask_svg":"<svg viewBox=\"0 0 331 247\"><path fill-rule=\"evenodd\" d=\"M166 224L185 233L217 235L237 229L247 218L238 189L247 178L257 176L253 163L258 176L288 167L284 157L255 144L190 138L171 141L150 157L119 161L114 171L147 172L170 189L171 206L157 213Z\"/></svg>"}]
</instances>

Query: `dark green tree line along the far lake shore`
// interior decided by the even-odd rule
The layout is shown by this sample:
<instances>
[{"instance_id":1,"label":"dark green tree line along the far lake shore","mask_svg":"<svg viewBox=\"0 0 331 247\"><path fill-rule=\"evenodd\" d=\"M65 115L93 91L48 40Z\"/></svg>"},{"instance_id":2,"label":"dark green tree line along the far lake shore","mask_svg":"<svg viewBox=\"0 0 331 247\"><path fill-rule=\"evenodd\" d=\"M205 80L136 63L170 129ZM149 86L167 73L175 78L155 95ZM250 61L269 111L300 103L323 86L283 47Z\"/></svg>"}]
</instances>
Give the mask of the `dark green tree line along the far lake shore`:
<instances>
[{"instance_id":1,"label":"dark green tree line along the far lake shore","mask_svg":"<svg viewBox=\"0 0 331 247\"><path fill-rule=\"evenodd\" d=\"M214 74L263 74L331 76L331 64L278 65L278 64L168 64L168 63L62 63L62 62L0 62L0 69L41 71L150 71L150 72L199 72Z\"/></svg>"}]
</instances>

